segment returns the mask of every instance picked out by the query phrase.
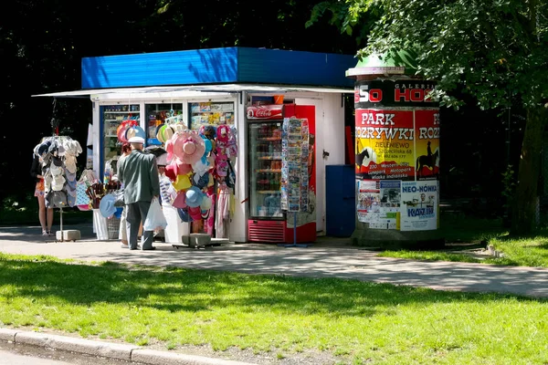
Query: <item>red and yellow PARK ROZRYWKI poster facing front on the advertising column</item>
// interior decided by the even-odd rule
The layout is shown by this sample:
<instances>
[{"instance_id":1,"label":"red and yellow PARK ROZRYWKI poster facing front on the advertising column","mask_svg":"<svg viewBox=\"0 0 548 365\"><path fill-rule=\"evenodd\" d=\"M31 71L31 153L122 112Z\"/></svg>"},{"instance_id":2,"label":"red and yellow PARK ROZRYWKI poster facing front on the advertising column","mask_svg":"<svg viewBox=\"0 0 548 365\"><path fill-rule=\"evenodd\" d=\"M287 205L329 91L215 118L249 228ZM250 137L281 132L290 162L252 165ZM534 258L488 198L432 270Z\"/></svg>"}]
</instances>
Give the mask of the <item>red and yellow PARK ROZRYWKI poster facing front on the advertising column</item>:
<instances>
[{"instance_id":1,"label":"red and yellow PARK ROZRYWKI poster facing front on the advertising column","mask_svg":"<svg viewBox=\"0 0 548 365\"><path fill-rule=\"evenodd\" d=\"M415 180L413 110L358 109L356 177Z\"/></svg>"}]
</instances>

